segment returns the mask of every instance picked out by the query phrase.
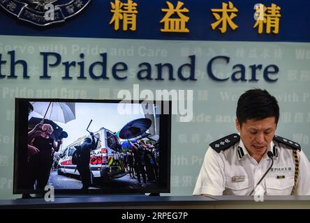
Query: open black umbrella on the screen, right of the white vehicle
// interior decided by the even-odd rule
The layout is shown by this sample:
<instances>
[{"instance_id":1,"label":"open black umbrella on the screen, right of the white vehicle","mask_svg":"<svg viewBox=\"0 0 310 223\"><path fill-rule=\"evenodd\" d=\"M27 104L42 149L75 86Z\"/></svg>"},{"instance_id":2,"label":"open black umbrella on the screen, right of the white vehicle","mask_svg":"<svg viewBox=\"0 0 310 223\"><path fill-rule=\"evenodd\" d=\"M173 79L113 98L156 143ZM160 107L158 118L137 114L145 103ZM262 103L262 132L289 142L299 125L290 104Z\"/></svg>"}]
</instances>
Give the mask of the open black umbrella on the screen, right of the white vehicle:
<instances>
[{"instance_id":1,"label":"open black umbrella on the screen, right of the white vehicle","mask_svg":"<svg viewBox=\"0 0 310 223\"><path fill-rule=\"evenodd\" d=\"M152 121L149 118L138 118L128 122L120 131L119 138L132 139L145 133L152 125Z\"/></svg>"}]
</instances>

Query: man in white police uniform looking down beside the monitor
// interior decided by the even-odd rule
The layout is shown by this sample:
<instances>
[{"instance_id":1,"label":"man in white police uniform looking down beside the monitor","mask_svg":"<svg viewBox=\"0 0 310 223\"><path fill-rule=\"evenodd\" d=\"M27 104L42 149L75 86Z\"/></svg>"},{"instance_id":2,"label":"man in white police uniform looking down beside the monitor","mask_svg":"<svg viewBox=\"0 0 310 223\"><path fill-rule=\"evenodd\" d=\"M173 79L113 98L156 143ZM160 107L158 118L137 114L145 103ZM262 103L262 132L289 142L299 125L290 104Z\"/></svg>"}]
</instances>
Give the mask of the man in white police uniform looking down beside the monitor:
<instances>
[{"instance_id":1,"label":"man in white police uniform looking down beside the monitor","mask_svg":"<svg viewBox=\"0 0 310 223\"><path fill-rule=\"evenodd\" d=\"M310 164L300 144L275 135L279 105L251 89L237 103L236 127L209 144L194 195L310 195ZM261 192L260 192L261 194Z\"/></svg>"}]
</instances>

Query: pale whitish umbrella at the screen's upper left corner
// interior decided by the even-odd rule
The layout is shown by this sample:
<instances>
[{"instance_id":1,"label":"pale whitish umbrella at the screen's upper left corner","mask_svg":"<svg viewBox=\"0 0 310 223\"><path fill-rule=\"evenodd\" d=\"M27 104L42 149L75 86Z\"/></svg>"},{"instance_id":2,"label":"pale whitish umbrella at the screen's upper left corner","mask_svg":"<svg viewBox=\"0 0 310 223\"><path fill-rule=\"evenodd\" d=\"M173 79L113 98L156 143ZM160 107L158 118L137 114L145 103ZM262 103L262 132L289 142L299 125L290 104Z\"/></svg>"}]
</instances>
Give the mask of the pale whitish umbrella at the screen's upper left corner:
<instances>
[{"instance_id":1,"label":"pale whitish umbrella at the screen's upper left corner","mask_svg":"<svg viewBox=\"0 0 310 223\"><path fill-rule=\"evenodd\" d=\"M75 119L75 102L31 102L43 119L68 123Z\"/></svg>"}]
</instances>

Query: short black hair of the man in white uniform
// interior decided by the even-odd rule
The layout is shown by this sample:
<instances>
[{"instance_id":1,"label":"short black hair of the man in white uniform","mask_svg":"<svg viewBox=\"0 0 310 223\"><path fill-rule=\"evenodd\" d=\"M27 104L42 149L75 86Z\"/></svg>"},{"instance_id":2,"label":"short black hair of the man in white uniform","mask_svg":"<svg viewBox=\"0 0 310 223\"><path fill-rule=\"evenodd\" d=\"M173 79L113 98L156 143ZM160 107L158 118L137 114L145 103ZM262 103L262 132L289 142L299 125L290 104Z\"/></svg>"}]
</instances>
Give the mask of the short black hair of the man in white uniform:
<instances>
[{"instance_id":1,"label":"short black hair of the man in white uniform","mask_svg":"<svg viewBox=\"0 0 310 223\"><path fill-rule=\"evenodd\" d=\"M251 89L243 93L238 100L236 114L240 126L248 119L261 120L270 117L274 117L278 124L280 116L278 101L262 89Z\"/></svg>"}]
</instances>

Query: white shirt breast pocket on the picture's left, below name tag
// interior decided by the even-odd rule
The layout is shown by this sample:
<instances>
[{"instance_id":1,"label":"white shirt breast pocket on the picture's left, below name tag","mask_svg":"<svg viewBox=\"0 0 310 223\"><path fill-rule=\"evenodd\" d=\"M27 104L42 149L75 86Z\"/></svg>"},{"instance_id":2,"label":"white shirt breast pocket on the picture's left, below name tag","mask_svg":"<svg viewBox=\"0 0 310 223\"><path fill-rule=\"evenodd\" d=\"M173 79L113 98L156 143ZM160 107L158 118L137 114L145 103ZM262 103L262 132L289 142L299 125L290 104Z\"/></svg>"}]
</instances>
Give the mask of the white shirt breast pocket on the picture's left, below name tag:
<instances>
[{"instance_id":1,"label":"white shirt breast pocket on the picture's left, below name tag","mask_svg":"<svg viewBox=\"0 0 310 223\"><path fill-rule=\"evenodd\" d=\"M231 177L226 177L226 184L223 195L248 195L249 178L244 178L242 182L232 182Z\"/></svg>"}]
</instances>

